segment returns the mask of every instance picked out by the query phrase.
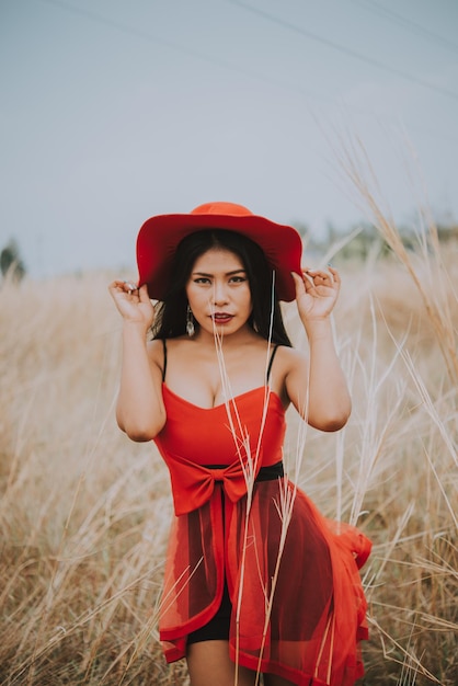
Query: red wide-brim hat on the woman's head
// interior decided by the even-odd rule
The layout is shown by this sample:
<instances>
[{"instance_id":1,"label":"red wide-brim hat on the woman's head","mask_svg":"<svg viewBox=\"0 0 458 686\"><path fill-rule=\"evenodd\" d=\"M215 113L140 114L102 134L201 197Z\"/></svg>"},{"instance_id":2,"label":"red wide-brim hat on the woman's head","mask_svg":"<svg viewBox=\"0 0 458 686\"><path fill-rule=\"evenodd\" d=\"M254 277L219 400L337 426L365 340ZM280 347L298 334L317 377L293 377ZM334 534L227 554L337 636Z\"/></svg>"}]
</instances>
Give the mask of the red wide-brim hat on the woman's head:
<instances>
[{"instance_id":1,"label":"red wide-brim hat on the woman's head","mask_svg":"<svg viewBox=\"0 0 458 686\"><path fill-rule=\"evenodd\" d=\"M138 286L147 284L150 298L163 300L173 278L171 268L179 243L190 233L205 229L237 231L257 243L275 271L278 298L287 302L295 299L291 272L300 274L299 232L233 203L207 203L187 215L158 215L145 221L137 238Z\"/></svg>"}]
</instances>

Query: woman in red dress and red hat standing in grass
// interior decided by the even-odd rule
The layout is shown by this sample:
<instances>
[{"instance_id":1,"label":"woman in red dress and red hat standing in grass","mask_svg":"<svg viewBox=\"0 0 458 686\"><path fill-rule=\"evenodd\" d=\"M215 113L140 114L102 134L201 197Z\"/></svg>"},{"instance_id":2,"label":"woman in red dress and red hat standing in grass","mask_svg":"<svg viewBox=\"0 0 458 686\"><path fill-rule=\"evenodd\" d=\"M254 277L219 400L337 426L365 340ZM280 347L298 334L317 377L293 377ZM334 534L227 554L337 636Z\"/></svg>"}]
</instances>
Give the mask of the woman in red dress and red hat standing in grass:
<instances>
[{"instance_id":1,"label":"woman in red dress and red hat standing in grass","mask_svg":"<svg viewBox=\"0 0 458 686\"><path fill-rule=\"evenodd\" d=\"M117 422L154 441L170 470L160 636L192 686L363 674L357 569L370 542L337 533L283 471L289 403L322 431L351 412L330 323L340 276L302 270L301 252L294 228L210 203L147 220L139 287L110 287L124 319ZM296 299L309 355L291 347L278 299Z\"/></svg>"}]
</instances>

